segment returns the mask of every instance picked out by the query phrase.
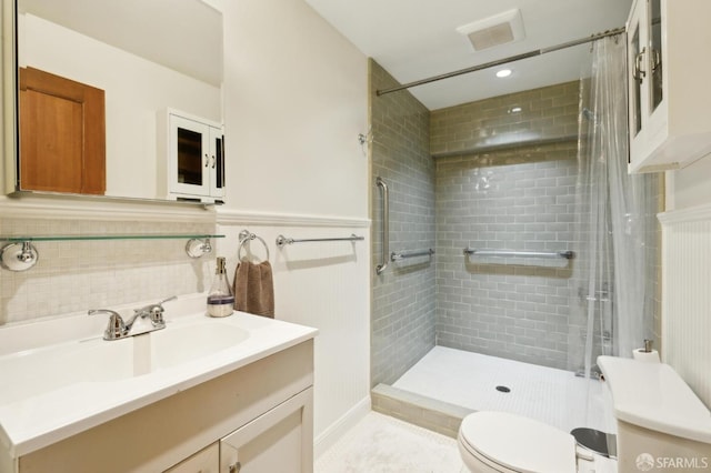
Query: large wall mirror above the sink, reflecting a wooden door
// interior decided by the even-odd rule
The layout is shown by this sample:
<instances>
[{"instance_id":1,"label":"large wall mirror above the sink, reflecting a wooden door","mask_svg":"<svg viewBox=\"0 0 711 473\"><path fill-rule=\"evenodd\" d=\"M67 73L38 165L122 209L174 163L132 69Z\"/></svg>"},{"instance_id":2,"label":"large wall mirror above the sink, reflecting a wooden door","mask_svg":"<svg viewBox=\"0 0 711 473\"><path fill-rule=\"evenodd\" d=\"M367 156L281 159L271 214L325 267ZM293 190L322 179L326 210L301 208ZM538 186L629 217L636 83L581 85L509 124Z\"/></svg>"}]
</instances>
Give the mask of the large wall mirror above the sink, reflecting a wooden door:
<instances>
[{"instance_id":1,"label":"large wall mirror above the sink, reflecting a wooden door","mask_svg":"<svg viewBox=\"0 0 711 473\"><path fill-rule=\"evenodd\" d=\"M210 0L2 1L17 52L7 193L222 203L222 14ZM170 129L176 115L190 132Z\"/></svg>"}]
</instances>

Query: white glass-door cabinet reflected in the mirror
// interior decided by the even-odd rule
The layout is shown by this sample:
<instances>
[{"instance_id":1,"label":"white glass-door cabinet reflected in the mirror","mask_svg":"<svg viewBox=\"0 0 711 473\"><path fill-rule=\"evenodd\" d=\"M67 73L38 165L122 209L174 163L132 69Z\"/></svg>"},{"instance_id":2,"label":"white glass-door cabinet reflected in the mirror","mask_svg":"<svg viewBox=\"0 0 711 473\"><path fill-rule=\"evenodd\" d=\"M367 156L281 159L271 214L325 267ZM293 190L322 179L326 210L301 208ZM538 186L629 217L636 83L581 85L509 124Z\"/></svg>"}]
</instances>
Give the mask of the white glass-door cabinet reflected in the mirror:
<instances>
[{"instance_id":1,"label":"white glass-door cabinet reflected in the mirror","mask_svg":"<svg viewBox=\"0 0 711 473\"><path fill-rule=\"evenodd\" d=\"M219 123L173 109L159 114L159 198L222 202L224 135Z\"/></svg>"}]
</instances>

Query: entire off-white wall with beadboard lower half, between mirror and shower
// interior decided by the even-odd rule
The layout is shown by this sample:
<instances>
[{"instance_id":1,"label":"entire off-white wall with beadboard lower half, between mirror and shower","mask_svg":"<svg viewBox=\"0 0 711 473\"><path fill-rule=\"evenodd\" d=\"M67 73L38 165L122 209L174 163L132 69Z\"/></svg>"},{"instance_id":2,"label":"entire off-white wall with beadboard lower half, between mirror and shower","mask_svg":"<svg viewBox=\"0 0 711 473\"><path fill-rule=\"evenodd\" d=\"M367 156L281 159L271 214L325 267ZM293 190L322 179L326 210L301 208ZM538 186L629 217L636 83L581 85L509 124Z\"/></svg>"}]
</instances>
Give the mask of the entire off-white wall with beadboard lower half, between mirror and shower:
<instances>
[{"instance_id":1,"label":"entire off-white wall with beadboard lower half, between mirror and shower","mask_svg":"<svg viewBox=\"0 0 711 473\"><path fill-rule=\"evenodd\" d=\"M224 1L228 234L264 238L274 268L277 318L319 329L317 453L370 407L368 62L302 0ZM293 238L367 238L302 243ZM252 248L259 249L258 243ZM259 250L257 250L259 251ZM263 255L262 255L263 258Z\"/></svg>"}]
</instances>

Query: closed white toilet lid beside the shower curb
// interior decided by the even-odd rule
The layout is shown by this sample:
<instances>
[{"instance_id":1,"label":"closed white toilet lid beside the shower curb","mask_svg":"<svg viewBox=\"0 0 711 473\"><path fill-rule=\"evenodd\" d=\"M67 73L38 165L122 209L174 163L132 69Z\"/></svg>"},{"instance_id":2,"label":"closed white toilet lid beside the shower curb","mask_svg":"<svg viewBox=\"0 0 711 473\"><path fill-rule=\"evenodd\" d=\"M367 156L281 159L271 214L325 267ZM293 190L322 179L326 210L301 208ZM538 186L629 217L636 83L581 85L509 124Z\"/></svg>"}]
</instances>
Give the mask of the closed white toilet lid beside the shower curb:
<instances>
[{"instance_id":1,"label":"closed white toilet lid beside the shower curb","mask_svg":"<svg viewBox=\"0 0 711 473\"><path fill-rule=\"evenodd\" d=\"M474 412L462 421L464 446L524 473L572 473L575 440L551 425L507 412Z\"/></svg>"}]
</instances>

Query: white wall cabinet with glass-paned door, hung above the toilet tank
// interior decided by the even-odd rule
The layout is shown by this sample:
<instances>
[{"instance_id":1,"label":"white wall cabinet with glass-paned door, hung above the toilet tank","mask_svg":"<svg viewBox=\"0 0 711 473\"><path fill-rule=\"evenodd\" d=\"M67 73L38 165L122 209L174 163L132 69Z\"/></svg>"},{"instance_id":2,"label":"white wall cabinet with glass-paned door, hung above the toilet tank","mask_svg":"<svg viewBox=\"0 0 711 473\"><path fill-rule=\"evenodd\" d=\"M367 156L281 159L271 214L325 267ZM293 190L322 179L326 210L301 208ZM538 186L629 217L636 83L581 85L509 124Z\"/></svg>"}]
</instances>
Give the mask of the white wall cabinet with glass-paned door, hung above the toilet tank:
<instances>
[{"instance_id":1,"label":"white wall cabinet with glass-paned door, hung above the toilet tank","mask_svg":"<svg viewBox=\"0 0 711 473\"><path fill-rule=\"evenodd\" d=\"M627 24L630 172L711 152L711 2L634 0Z\"/></svg>"}]
</instances>

